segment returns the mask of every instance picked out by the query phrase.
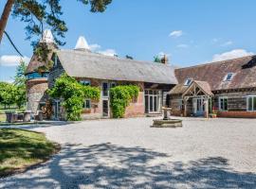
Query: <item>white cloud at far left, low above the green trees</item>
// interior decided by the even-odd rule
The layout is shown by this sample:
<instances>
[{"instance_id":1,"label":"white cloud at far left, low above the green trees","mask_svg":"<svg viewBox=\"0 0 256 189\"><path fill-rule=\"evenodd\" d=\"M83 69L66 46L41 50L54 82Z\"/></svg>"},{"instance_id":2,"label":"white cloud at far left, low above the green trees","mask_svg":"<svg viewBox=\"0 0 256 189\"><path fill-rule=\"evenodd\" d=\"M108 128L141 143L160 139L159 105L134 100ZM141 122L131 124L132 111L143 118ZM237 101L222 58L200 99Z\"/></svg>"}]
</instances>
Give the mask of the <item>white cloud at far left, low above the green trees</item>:
<instances>
[{"instance_id":1,"label":"white cloud at far left, low above the green trees","mask_svg":"<svg viewBox=\"0 0 256 189\"><path fill-rule=\"evenodd\" d=\"M28 57L21 58L20 56L16 56L16 55L3 55L0 57L0 65L17 66L19 65L21 60L24 60L26 63L28 63L30 58Z\"/></svg>"}]
</instances>

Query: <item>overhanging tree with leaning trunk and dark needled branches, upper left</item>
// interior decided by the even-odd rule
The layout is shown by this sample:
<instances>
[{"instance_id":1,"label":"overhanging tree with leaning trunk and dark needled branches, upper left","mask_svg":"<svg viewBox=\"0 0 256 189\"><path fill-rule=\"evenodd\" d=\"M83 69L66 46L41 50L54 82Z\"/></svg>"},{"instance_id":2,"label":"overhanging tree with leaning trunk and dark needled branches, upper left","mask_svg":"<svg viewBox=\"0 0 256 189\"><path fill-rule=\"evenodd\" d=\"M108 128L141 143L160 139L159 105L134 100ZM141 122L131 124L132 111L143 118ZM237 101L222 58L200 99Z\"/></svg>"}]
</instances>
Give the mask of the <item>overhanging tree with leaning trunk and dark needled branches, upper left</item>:
<instances>
[{"instance_id":1,"label":"overhanging tree with leaning trunk and dark needled branches, upper left","mask_svg":"<svg viewBox=\"0 0 256 189\"><path fill-rule=\"evenodd\" d=\"M45 25L50 27L58 44L64 44L57 36L64 38L67 31L65 22L60 18L63 14L61 0L7 0L0 19L0 43L6 29L9 14L27 23L27 39L41 36ZM74 0L73 0L74 1ZM91 6L92 12L103 12L112 0L76 0L82 5Z\"/></svg>"}]
</instances>

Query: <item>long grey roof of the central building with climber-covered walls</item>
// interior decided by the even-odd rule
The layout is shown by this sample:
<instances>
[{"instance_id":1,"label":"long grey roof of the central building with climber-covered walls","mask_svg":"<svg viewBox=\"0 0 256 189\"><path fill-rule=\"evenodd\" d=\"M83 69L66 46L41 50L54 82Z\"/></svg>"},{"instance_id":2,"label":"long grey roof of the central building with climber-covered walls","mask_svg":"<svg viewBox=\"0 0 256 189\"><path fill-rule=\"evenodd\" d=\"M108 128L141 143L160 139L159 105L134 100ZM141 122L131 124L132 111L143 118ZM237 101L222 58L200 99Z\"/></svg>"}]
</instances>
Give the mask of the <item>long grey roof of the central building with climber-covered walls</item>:
<instances>
[{"instance_id":1,"label":"long grey roof of the central building with climber-covered walls","mask_svg":"<svg viewBox=\"0 0 256 189\"><path fill-rule=\"evenodd\" d=\"M120 59L80 50L58 50L70 77L176 84L174 67L163 63Z\"/></svg>"}]
</instances>

